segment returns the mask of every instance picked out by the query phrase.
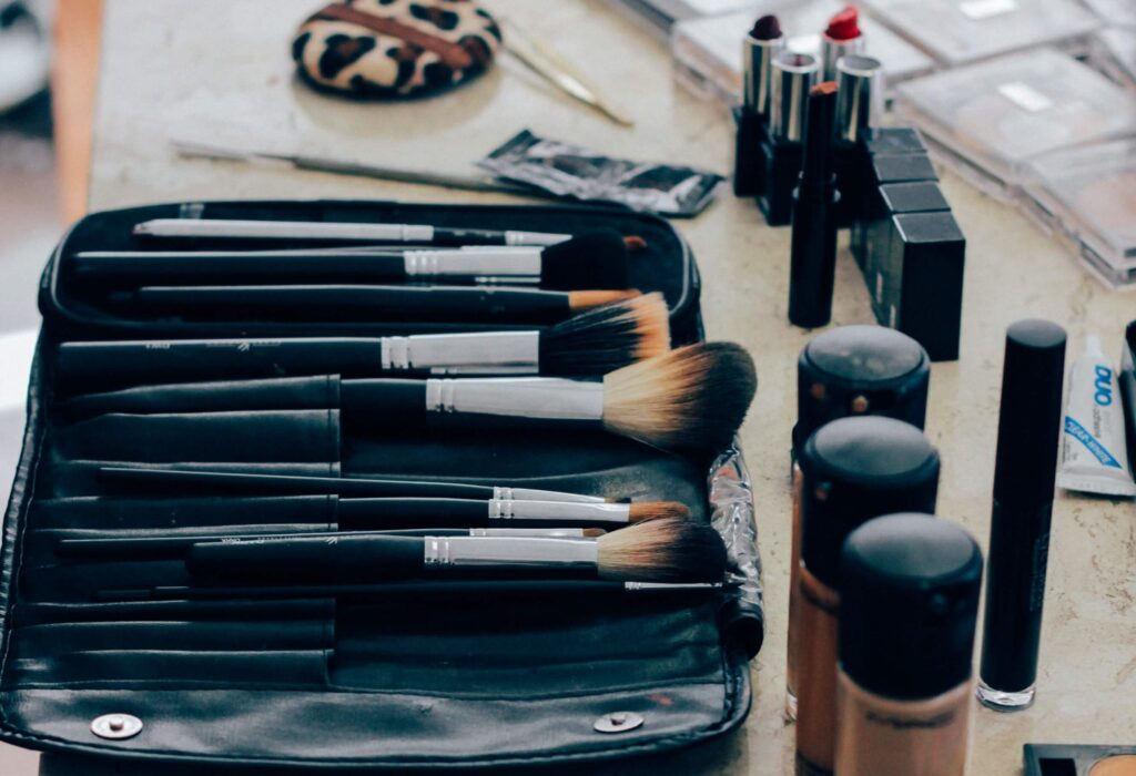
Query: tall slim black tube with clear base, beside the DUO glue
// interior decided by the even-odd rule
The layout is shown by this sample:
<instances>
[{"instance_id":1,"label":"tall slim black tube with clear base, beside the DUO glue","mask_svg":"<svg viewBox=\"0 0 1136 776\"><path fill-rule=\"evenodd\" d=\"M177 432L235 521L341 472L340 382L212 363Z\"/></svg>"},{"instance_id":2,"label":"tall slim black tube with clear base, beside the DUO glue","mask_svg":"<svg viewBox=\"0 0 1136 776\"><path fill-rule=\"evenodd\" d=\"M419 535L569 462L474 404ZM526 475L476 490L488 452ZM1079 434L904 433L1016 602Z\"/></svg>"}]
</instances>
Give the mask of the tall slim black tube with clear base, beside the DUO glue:
<instances>
[{"instance_id":1,"label":"tall slim black tube with clear base, beside the DUO glue","mask_svg":"<svg viewBox=\"0 0 1136 776\"><path fill-rule=\"evenodd\" d=\"M1024 320L1005 334L978 700L1034 702L1061 435L1066 332Z\"/></svg>"}]
</instances>

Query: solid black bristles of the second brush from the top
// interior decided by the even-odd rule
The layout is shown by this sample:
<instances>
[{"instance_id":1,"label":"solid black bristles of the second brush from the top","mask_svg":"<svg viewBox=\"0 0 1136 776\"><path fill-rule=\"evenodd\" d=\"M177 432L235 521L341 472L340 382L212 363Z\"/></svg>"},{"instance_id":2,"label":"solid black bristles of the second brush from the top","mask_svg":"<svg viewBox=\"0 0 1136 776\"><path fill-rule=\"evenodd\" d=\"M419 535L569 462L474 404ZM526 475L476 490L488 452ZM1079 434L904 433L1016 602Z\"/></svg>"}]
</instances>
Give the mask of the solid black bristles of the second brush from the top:
<instances>
[{"instance_id":1,"label":"solid black bristles of the second brush from the top","mask_svg":"<svg viewBox=\"0 0 1136 776\"><path fill-rule=\"evenodd\" d=\"M615 229L586 231L541 252L541 286L559 290L627 288L627 244Z\"/></svg>"}]
</instances>

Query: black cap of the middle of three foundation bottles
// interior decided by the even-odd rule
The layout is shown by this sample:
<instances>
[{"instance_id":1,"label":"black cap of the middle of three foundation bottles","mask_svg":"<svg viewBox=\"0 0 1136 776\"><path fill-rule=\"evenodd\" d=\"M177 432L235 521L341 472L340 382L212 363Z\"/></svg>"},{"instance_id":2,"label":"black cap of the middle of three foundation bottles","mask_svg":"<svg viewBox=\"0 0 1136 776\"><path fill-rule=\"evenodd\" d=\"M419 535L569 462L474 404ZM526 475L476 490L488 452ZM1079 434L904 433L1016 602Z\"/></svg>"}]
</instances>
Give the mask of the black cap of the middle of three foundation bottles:
<instances>
[{"instance_id":1,"label":"black cap of the middle of three foundation bottles","mask_svg":"<svg viewBox=\"0 0 1136 776\"><path fill-rule=\"evenodd\" d=\"M891 417L843 417L820 427L800 458L801 559L834 590L841 547L860 525L893 512L934 512L938 453L922 431Z\"/></svg>"}]
</instances>

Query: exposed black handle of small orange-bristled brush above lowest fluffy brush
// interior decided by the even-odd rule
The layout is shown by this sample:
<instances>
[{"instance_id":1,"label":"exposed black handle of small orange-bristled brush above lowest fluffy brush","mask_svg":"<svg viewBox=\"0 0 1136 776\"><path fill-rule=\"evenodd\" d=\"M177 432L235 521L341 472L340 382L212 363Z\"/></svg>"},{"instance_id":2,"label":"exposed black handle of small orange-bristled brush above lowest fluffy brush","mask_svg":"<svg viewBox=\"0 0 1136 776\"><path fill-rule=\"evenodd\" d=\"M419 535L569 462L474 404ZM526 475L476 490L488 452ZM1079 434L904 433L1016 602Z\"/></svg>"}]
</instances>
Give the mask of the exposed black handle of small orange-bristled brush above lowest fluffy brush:
<instances>
[{"instance_id":1,"label":"exposed black handle of small orange-bristled brush above lowest fluffy brush","mask_svg":"<svg viewBox=\"0 0 1136 776\"><path fill-rule=\"evenodd\" d=\"M488 504L460 498L349 498L339 505L344 531L488 525Z\"/></svg>"}]
</instances>

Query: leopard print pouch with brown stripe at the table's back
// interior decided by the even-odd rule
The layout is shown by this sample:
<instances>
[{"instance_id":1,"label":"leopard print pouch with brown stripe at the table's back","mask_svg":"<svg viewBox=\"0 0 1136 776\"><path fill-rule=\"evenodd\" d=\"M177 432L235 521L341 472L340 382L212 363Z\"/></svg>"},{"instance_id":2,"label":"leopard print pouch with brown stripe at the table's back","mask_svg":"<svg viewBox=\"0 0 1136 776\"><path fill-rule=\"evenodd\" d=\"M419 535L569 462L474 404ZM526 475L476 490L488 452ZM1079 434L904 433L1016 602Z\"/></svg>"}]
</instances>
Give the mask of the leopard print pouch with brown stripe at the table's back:
<instances>
[{"instance_id":1,"label":"leopard print pouch with brown stripe at the table's back","mask_svg":"<svg viewBox=\"0 0 1136 776\"><path fill-rule=\"evenodd\" d=\"M402 98L483 73L501 28L471 0L345 0L308 18L292 41L300 75L358 98Z\"/></svg>"}]
</instances>

